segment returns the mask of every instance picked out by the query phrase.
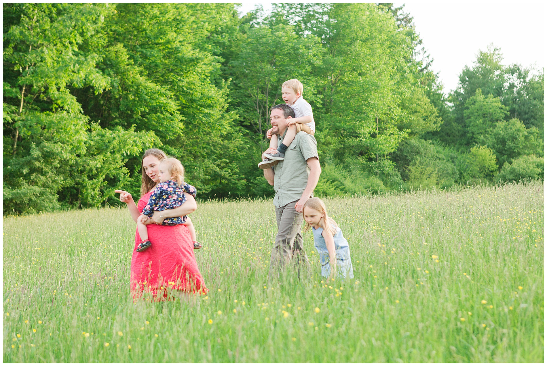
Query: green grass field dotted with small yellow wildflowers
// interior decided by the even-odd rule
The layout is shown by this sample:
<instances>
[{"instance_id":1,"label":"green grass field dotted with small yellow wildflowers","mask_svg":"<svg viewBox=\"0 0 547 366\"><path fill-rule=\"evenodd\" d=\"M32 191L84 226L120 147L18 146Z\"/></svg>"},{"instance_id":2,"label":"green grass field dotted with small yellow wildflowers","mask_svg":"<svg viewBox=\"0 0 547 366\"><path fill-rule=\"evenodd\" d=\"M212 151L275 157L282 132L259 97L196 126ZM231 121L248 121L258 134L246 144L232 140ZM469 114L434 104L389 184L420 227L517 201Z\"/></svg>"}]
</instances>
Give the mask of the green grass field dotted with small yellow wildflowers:
<instances>
[{"instance_id":1,"label":"green grass field dotted with small yellow wildflowers","mask_svg":"<svg viewBox=\"0 0 547 366\"><path fill-rule=\"evenodd\" d=\"M207 297L133 304L125 209L4 219L4 362L543 362L543 182L325 199L355 278L267 283L271 200L191 217ZM264 288L268 285L267 288ZM316 311L317 308L317 311Z\"/></svg>"}]
</instances>

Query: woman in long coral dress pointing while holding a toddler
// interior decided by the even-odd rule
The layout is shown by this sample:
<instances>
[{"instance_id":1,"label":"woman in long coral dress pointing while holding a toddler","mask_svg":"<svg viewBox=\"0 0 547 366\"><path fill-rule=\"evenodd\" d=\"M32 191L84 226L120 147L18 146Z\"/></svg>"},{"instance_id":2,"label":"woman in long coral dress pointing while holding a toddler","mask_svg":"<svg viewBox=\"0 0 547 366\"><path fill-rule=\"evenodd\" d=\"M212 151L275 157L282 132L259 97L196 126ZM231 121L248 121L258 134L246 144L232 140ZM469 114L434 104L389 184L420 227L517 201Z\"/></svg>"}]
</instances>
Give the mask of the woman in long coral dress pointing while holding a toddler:
<instances>
[{"instance_id":1,"label":"woman in long coral dress pointing while holding a toddler","mask_svg":"<svg viewBox=\"0 0 547 366\"><path fill-rule=\"evenodd\" d=\"M139 215L148 203L154 188L160 181L158 176L159 164L166 158L159 149L149 149L142 158L142 185L141 199L138 205L126 191L120 193L120 201L127 204L127 209L133 221L137 222ZM181 206L164 211L154 211L152 221L147 226L148 238L153 243L150 249L137 252L137 245L141 242L138 232L135 234L135 246L131 257L131 292L133 298L150 293L155 300L168 299L168 290L179 290L185 293L207 293L203 276L197 269L194 256L194 244L188 227L184 225L158 225L166 217L188 215L196 210L196 201L190 194L186 194L187 201Z\"/></svg>"}]
</instances>

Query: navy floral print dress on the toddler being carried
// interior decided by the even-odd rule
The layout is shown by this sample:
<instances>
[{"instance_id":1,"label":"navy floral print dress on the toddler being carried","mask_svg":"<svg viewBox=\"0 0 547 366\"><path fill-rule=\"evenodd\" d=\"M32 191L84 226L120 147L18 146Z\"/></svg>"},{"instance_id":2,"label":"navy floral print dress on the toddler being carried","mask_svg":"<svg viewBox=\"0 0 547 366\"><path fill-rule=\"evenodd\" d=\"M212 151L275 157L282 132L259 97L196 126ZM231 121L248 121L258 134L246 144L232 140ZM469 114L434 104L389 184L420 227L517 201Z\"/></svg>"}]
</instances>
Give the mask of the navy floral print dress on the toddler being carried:
<instances>
[{"instance_id":1,"label":"navy floral print dress on the toddler being carried","mask_svg":"<svg viewBox=\"0 0 547 366\"><path fill-rule=\"evenodd\" d=\"M144 209L143 215L152 217L154 211L171 210L177 208L186 202L184 192L196 197L196 187L191 186L185 182L179 187L176 180L167 180L158 184L156 189L152 192L150 199ZM186 222L187 216L182 217L167 217L161 225L179 225Z\"/></svg>"}]
</instances>

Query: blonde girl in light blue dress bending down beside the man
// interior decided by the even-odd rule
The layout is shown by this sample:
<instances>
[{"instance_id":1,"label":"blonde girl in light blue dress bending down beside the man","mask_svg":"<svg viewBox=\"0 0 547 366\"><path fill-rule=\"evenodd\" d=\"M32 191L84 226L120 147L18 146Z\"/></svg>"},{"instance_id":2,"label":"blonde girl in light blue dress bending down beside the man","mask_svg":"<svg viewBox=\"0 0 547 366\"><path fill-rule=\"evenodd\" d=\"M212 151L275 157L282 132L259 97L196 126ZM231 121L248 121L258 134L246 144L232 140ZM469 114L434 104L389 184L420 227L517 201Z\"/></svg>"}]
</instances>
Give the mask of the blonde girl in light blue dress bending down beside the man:
<instances>
[{"instance_id":1,"label":"blonde girl in light blue dress bending down beside the man","mask_svg":"<svg viewBox=\"0 0 547 366\"><path fill-rule=\"evenodd\" d=\"M308 231L310 227L313 231L313 241L321 263L321 275L325 278L330 276L333 280L336 274L342 279L353 278L350 246L342 229L327 215L323 201L317 197L310 198L304 204L302 215L306 221L304 231Z\"/></svg>"}]
</instances>

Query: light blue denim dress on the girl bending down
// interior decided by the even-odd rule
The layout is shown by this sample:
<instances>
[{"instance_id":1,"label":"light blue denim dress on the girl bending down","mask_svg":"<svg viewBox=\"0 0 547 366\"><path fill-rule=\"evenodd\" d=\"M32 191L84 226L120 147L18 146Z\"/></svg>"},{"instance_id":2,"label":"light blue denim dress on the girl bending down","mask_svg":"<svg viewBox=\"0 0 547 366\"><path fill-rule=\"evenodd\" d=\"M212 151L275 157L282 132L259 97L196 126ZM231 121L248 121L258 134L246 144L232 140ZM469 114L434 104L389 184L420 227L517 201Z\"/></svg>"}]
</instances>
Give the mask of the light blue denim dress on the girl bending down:
<instances>
[{"instance_id":1,"label":"light blue denim dress on the girl bending down","mask_svg":"<svg viewBox=\"0 0 547 366\"><path fill-rule=\"evenodd\" d=\"M333 226L334 227L334 226ZM323 238L323 229L315 229L312 226L313 241L315 242L315 249L319 252L319 263L321 263L321 275L327 277L330 275L330 262L329 251L327 249L327 243ZM336 250L336 274L342 276L342 278L353 278L353 265L350 258L350 246L347 244L346 238L342 235L342 229L336 227L336 234L334 234L334 248Z\"/></svg>"}]
</instances>

